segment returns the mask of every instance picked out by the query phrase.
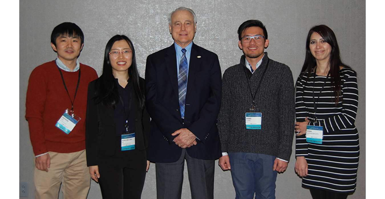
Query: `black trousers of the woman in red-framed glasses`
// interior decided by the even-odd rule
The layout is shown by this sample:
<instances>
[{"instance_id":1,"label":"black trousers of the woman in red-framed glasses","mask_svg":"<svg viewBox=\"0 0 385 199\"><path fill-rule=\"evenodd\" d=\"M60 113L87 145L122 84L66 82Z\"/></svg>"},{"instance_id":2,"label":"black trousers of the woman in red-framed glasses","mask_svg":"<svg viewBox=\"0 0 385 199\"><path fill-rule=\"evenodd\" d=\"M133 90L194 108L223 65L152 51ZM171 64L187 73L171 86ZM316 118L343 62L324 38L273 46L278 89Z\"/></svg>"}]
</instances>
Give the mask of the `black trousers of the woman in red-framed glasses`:
<instances>
[{"instance_id":1,"label":"black trousers of the woman in red-framed glasses","mask_svg":"<svg viewBox=\"0 0 385 199\"><path fill-rule=\"evenodd\" d=\"M118 137L119 138L119 137ZM119 150L112 157L98 155L103 199L140 199L146 178L146 150Z\"/></svg>"}]
</instances>

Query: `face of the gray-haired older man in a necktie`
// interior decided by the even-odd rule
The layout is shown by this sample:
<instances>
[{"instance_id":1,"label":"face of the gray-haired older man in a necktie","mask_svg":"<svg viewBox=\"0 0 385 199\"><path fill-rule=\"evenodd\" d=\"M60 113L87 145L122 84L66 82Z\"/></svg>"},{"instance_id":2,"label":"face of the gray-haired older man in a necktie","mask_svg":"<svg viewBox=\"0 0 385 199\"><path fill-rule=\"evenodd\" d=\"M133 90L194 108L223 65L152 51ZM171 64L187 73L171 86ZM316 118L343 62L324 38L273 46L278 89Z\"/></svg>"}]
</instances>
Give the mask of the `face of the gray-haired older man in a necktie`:
<instances>
[{"instance_id":1,"label":"face of the gray-haired older man in a necktie","mask_svg":"<svg viewBox=\"0 0 385 199\"><path fill-rule=\"evenodd\" d=\"M194 16L187 10L179 10L171 16L169 30L175 43L185 48L194 39L196 24Z\"/></svg>"}]
</instances>

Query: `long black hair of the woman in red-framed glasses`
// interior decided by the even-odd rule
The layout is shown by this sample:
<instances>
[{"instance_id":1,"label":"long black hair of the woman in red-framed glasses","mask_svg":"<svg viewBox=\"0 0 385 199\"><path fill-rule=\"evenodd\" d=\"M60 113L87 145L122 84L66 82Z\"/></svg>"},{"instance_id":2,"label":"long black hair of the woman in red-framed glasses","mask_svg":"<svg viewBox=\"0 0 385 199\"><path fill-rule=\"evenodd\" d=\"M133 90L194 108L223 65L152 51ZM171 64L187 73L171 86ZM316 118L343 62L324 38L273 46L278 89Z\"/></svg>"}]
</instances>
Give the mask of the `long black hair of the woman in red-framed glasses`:
<instances>
[{"instance_id":1,"label":"long black hair of the woman in red-framed glasses","mask_svg":"<svg viewBox=\"0 0 385 199\"><path fill-rule=\"evenodd\" d=\"M117 88L117 83L112 74L112 66L110 63L109 53L111 51L112 45L116 41L126 40L132 50L132 63L128 69L129 80L132 84L132 88L136 95L136 98L139 102L139 107L144 108L144 91L143 85L139 81L139 73L136 66L136 58L135 58L135 49L134 45L132 45L131 40L125 35L115 35L113 36L105 46L104 51L104 61L103 61L103 74L97 79L95 83L95 102L102 103L107 107L115 108L116 104L119 102L120 95Z\"/></svg>"}]
</instances>

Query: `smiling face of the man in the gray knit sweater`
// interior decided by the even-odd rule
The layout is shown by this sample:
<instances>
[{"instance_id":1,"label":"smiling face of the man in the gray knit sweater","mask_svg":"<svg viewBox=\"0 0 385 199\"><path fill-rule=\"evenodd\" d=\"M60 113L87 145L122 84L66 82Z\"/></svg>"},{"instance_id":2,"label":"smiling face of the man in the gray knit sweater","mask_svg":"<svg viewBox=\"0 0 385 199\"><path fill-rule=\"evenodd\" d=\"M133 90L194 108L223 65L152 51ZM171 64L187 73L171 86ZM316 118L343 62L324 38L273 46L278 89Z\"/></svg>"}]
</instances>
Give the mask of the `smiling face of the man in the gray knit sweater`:
<instances>
[{"instance_id":1,"label":"smiling face of the man in the gray knit sweater","mask_svg":"<svg viewBox=\"0 0 385 199\"><path fill-rule=\"evenodd\" d=\"M257 26L252 26L246 28L242 33L242 37L256 35L264 36L263 29ZM256 59L255 61L259 61L263 57L264 49L269 46L269 39L262 38L262 41L260 42L255 42L254 39L251 39L249 43L239 41L238 46L242 49L246 59Z\"/></svg>"}]
</instances>

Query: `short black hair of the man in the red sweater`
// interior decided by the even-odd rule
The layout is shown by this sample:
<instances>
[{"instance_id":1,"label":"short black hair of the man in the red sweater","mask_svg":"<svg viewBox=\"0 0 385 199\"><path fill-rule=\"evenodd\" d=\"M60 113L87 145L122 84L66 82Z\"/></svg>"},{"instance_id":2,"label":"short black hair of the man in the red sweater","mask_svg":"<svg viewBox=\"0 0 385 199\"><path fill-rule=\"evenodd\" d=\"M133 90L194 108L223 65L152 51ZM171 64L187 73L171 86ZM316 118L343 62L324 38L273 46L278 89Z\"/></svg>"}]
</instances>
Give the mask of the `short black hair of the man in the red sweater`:
<instances>
[{"instance_id":1,"label":"short black hair of the man in the red sweater","mask_svg":"<svg viewBox=\"0 0 385 199\"><path fill-rule=\"evenodd\" d=\"M80 45L82 45L84 43L83 31L75 23L64 22L64 23L57 25L54 28L54 30L52 30L51 43L53 43L55 46L56 46L56 39L60 35L67 35L69 37L78 36L81 40Z\"/></svg>"}]
</instances>

